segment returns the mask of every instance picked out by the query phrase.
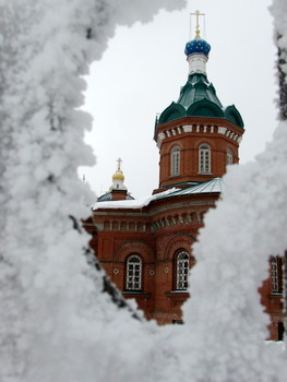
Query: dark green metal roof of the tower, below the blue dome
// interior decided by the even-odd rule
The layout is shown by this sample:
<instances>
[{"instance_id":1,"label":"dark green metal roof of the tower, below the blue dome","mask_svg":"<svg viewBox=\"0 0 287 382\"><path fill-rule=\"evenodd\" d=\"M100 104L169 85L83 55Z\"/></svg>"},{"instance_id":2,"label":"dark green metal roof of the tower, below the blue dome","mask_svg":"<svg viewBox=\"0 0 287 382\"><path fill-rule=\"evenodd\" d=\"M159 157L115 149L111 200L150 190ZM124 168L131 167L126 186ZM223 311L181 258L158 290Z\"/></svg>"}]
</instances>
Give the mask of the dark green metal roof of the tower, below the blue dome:
<instances>
[{"instance_id":1,"label":"dark green metal roof of the tower, below the blue dome","mask_svg":"<svg viewBox=\"0 0 287 382\"><path fill-rule=\"evenodd\" d=\"M189 75L188 82L180 91L178 102L171 103L162 112L156 126L182 117L225 118L241 129L244 127L237 108L234 105L224 108L215 87L208 82L207 76L201 73Z\"/></svg>"}]
</instances>

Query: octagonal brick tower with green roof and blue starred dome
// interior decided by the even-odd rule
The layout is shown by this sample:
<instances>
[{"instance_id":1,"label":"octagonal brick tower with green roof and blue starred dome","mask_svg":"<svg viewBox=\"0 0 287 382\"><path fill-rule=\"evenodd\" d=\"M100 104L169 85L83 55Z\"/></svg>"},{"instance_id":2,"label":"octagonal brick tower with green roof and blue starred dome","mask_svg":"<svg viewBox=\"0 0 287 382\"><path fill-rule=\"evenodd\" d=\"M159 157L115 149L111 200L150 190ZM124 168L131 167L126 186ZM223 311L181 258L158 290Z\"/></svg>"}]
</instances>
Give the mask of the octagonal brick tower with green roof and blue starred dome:
<instances>
[{"instance_id":1,"label":"octagonal brick tower with green roof and blue starred dome","mask_svg":"<svg viewBox=\"0 0 287 382\"><path fill-rule=\"evenodd\" d=\"M226 166L239 162L244 124L237 108L224 107L208 81L211 45L201 37L199 11L195 37L186 44L189 63L186 85L156 119L154 140L159 148L159 184L154 193L220 178Z\"/></svg>"}]
</instances>

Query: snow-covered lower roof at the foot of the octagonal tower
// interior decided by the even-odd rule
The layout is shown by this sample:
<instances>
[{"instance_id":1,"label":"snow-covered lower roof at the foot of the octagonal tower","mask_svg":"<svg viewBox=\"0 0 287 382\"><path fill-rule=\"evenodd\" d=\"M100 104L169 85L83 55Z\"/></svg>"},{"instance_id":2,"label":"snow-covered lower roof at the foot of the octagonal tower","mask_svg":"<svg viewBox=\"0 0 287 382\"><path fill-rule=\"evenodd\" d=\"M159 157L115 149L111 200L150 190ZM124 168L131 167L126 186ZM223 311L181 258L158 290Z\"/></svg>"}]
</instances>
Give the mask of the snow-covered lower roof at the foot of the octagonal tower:
<instances>
[{"instance_id":1,"label":"snow-covered lower roof at the foot of the octagonal tower","mask_svg":"<svg viewBox=\"0 0 287 382\"><path fill-rule=\"evenodd\" d=\"M142 208L148 205L154 200L171 198L171 196L180 196L180 195L190 195L190 194L199 194L199 193L216 193L223 192L224 183L220 178L214 178L206 182L191 186L184 189L176 189L172 188L170 190L157 193L152 196L141 198L136 200L120 200L120 201L107 201L107 202L96 202L92 205L92 210L103 210L103 208Z\"/></svg>"}]
</instances>

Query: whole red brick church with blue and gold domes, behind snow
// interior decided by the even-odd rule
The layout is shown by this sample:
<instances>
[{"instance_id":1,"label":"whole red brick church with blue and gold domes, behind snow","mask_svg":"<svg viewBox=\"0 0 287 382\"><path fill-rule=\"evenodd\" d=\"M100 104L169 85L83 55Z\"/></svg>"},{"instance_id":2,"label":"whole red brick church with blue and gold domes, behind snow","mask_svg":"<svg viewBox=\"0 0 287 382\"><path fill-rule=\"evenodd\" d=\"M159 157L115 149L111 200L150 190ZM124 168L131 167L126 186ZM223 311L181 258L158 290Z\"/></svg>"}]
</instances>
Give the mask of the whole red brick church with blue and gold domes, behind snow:
<instances>
[{"instance_id":1,"label":"whole red brick church with blue and gold domes, behind snow","mask_svg":"<svg viewBox=\"0 0 287 382\"><path fill-rule=\"evenodd\" d=\"M184 50L188 81L178 100L155 122L159 184L153 195L145 200L130 195L119 159L109 192L98 198L85 222L93 236L91 247L110 279L159 324L182 322L180 307L189 297L188 274L195 264L192 244L204 214L220 195L227 165L239 162L244 133L237 108L224 107L207 80L210 50L198 27ZM283 335L279 258L272 258L271 276L261 294L272 317L271 337L278 339Z\"/></svg>"}]
</instances>

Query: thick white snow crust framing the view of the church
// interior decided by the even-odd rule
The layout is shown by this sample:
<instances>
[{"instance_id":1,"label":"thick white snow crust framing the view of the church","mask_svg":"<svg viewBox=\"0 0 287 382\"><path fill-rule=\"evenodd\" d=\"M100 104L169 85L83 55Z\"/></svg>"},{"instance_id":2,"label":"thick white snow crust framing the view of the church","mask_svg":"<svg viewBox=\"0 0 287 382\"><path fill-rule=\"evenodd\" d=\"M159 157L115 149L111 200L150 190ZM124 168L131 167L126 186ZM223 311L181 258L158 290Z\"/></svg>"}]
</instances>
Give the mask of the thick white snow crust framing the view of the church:
<instances>
[{"instance_id":1,"label":"thick white snow crust framing the view of the church","mask_svg":"<svg viewBox=\"0 0 287 382\"><path fill-rule=\"evenodd\" d=\"M194 247L184 325L118 309L75 225L91 198L76 168L94 163L81 76L117 23L183 3L0 0L0 381L286 381L286 351L264 343L258 287L268 255L287 248L287 122L254 163L228 169ZM272 12L287 49L286 2Z\"/></svg>"}]
</instances>

